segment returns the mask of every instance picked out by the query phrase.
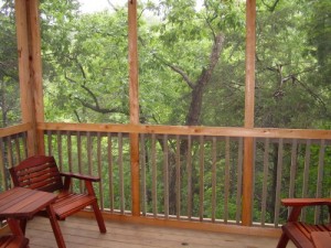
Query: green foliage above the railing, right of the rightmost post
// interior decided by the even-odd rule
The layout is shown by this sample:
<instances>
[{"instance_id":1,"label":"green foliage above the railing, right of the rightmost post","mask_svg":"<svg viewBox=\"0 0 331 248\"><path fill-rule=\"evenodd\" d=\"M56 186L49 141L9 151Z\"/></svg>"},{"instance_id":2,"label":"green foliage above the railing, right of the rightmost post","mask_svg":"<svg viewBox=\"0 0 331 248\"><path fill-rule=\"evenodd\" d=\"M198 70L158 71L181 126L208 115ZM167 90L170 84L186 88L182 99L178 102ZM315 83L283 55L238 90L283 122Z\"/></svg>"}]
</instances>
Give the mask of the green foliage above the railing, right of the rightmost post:
<instances>
[{"instance_id":1,"label":"green foliage above the railing, right of the rightmost post","mask_svg":"<svg viewBox=\"0 0 331 248\"><path fill-rule=\"evenodd\" d=\"M317 19L312 17L317 17L314 12L319 10L313 4L324 4L323 0L314 2L279 1L273 11L259 4L256 57L258 127L323 128L329 122L330 94L325 93L330 84L327 83L329 79L321 80L320 77L324 77L328 69L318 73L319 58L307 52L317 48L309 42L317 40L308 28L317 28L313 24ZM317 33L325 31L314 29Z\"/></svg>"}]
</instances>

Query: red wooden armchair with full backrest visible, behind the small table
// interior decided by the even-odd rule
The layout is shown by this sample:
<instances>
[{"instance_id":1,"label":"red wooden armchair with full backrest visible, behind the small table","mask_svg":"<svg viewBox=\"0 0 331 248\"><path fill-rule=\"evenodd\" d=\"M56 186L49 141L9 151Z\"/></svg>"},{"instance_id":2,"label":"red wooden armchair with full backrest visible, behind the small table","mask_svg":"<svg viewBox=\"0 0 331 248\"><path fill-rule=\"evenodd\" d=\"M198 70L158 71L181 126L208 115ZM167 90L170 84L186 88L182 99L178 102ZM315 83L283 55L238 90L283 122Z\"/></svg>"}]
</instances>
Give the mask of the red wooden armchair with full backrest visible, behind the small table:
<instances>
[{"instance_id":1,"label":"red wooden armchair with full backrest visible, behind the small table","mask_svg":"<svg viewBox=\"0 0 331 248\"><path fill-rule=\"evenodd\" d=\"M100 233L106 233L104 217L99 209L97 197L92 183L99 182L99 177L82 175L78 173L62 173L58 171L54 157L34 155L23 160L17 166L11 168L10 174L15 186L32 190L56 192L57 200L53 204L57 219L65 219L87 206L92 206ZM64 182L62 181L64 177ZM85 182L86 193L77 194L70 191L72 179ZM22 224L25 230L26 222Z\"/></svg>"}]
</instances>

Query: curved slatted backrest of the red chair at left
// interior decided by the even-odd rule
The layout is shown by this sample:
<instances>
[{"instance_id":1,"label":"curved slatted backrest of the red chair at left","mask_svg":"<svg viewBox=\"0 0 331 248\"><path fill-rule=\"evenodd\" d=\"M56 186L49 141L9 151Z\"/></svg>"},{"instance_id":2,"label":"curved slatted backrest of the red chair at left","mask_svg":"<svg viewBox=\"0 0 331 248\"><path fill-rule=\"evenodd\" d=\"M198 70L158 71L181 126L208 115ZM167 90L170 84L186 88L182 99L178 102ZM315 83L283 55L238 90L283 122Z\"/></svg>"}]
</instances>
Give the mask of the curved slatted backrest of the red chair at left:
<instances>
[{"instance_id":1,"label":"curved slatted backrest of the red chair at left","mask_svg":"<svg viewBox=\"0 0 331 248\"><path fill-rule=\"evenodd\" d=\"M9 169L14 186L46 192L63 188L54 157L34 155Z\"/></svg>"}]
</instances>

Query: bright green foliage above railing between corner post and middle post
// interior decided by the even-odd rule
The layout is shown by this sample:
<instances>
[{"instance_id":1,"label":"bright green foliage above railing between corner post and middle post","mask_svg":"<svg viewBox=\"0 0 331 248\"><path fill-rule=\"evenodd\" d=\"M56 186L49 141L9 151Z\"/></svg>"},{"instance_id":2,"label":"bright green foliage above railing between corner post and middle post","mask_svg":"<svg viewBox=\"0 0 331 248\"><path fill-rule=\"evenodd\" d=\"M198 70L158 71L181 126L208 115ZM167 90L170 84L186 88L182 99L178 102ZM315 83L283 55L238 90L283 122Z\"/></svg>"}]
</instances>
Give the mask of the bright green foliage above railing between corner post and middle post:
<instances>
[{"instance_id":1,"label":"bright green foliage above railing between corner post and middle post","mask_svg":"<svg viewBox=\"0 0 331 248\"><path fill-rule=\"evenodd\" d=\"M65 20L61 51L45 52L47 89L54 82L55 95L46 91L46 118L79 122L127 122L127 31L125 14L83 14ZM111 26L111 29L109 29ZM58 29L58 28L56 28ZM50 33L54 35L51 30ZM56 42L62 44L62 34ZM49 87L50 85L50 87ZM111 99L111 101L109 101ZM62 106L54 115L55 106ZM47 109L50 108L50 111ZM63 111L66 109L66 111ZM50 114L50 115L49 115ZM65 116L63 116L65 114ZM51 116L52 115L52 116Z\"/></svg>"}]
</instances>

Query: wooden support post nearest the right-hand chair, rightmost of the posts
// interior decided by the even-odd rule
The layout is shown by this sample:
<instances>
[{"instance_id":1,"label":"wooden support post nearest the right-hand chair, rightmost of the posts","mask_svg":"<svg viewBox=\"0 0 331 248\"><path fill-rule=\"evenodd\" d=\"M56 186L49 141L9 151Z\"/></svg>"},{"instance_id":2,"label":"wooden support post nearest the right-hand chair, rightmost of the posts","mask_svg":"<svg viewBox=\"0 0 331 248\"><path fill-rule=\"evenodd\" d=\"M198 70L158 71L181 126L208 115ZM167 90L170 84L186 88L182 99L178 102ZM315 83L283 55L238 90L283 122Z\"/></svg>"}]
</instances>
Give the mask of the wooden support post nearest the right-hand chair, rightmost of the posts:
<instances>
[{"instance_id":1,"label":"wooden support post nearest the right-hand chair, rightmost of the posts","mask_svg":"<svg viewBox=\"0 0 331 248\"><path fill-rule=\"evenodd\" d=\"M245 88L245 128L254 128L255 98L255 20L256 0L246 1L246 88ZM244 140L243 169L243 212L242 224L252 225L253 213L253 171L254 171L254 139Z\"/></svg>"}]
</instances>

